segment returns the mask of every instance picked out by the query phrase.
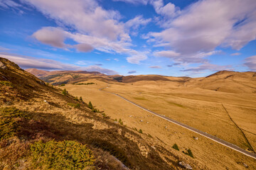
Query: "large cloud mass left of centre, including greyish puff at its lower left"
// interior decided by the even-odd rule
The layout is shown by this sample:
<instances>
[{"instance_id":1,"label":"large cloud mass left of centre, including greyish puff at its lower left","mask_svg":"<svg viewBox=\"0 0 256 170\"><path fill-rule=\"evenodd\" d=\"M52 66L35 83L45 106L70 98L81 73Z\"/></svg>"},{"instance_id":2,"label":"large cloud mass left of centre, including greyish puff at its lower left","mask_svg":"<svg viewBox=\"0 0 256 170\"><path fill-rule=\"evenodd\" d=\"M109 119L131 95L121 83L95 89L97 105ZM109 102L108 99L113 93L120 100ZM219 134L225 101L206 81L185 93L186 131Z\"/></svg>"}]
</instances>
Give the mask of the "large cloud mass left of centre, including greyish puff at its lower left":
<instances>
[{"instance_id":1,"label":"large cloud mass left of centre, including greyish puff at its lower left","mask_svg":"<svg viewBox=\"0 0 256 170\"><path fill-rule=\"evenodd\" d=\"M33 37L53 47L77 48L78 51L89 52L92 47L108 53L119 53L134 58L141 52L132 49L129 33L135 33L140 26L145 26L151 19L137 16L127 23L119 22L118 11L105 10L95 0L23 0L34 6L48 18L55 20L65 28L41 28ZM68 30L72 28L72 33ZM75 29L75 31L74 31ZM133 29L133 32L130 30ZM71 38L80 45L67 45L65 38ZM142 54L140 55L142 56ZM147 57L137 57L138 64Z\"/></svg>"}]
</instances>

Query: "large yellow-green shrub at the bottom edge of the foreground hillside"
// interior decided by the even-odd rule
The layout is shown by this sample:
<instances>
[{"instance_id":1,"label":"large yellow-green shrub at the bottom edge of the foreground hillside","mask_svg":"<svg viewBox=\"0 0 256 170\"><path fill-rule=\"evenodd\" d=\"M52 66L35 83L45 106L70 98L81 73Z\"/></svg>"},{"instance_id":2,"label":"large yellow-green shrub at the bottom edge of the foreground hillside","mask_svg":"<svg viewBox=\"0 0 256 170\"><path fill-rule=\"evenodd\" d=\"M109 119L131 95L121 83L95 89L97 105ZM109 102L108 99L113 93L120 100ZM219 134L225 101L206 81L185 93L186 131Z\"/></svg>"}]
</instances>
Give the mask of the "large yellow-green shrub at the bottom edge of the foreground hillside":
<instances>
[{"instance_id":1,"label":"large yellow-green shrub at the bottom edge of the foreground hillside","mask_svg":"<svg viewBox=\"0 0 256 170\"><path fill-rule=\"evenodd\" d=\"M75 141L35 142L31 145L31 157L37 169L95 169L92 151Z\"/></svg>"}]
</instances>

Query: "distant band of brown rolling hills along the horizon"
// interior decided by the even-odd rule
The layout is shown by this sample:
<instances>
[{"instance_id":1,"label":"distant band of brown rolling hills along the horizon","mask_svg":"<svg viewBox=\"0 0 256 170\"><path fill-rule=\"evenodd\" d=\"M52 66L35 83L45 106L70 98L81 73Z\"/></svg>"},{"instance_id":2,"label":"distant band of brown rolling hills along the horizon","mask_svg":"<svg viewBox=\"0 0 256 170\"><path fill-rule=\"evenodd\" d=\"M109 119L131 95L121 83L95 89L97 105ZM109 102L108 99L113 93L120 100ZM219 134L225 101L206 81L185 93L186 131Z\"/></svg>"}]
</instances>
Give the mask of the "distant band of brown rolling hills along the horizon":
<instances>
[{"instance_id":1,"label":"distant band of brown rolling hills along the horizon","mask_svg":"<svg viewBox=\"0 0 256 170\"><path fill-rule=\"evenodd\" d=\"M108 83L131 84L138 81L166 81L167 84L175 86L197 87L213 91L223 91L228 93L256 93L256 72L232 72L220 71L210 74L208 77L166 77L160 75L138 75L121 76L106 75L100 72L86 71L53 71L47 72L40 69L26 69L27 72L35 75L39 79L53 85L75 84L90 79L98 79Z\"/></svg>"}]
</instances>

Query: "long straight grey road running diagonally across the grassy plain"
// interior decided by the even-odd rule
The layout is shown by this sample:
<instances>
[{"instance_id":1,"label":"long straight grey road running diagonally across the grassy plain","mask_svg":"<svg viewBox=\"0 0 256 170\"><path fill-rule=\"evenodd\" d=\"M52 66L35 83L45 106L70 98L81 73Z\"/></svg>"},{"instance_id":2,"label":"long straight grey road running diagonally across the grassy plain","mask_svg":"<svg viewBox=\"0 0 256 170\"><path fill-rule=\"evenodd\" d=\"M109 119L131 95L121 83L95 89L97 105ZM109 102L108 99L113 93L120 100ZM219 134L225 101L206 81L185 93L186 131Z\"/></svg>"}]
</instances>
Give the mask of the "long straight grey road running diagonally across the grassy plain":
<instances>
[{"instance_id":1,"label":"long straight grey road running diagonally across the grassy plain","mask_svg":"<svg viewBox=\"0 0 256 170\"><path fill-rule=\"evenodd\" d=\"M106 89L106 88L107 88L107 87L102 88L102 89L99 89L99 90L102 91L103 89ZM256 154L255 154L255 153L248 152L248 151L246 151L245 149L242 149L242 148L238 147L237 145L233 145L233 144L230 143L230 142L226 142L225 140L221 140L221 139L218 138L218 137L215 137L215 136L210 135L210 134L208 134L208 133L206 133L206 132L203 132L203 131L201 131L201 130L198 130L198 129L196 129L196 128L193 128L193 127L191 127L191 126L189 126L189 125L185 125L185 124L180 123L180 122L178 122L178 121L176 121L176 120L173 120L173 119L171 119L171 118L167 118L165 115L159 115L158 113L154 113L153 111L149 111L148 109L143 108L142 106L139 106L137 103L134 103L134 102L132 102L132 101L129 101L127 98L124 98L123 96L120 96L119 94L114 94L114 93L112 93L112 92L110 92L110 91L105 91L105 92L106 92L106 93L109 93L109 94L113 94L113 95L115 95L115 96L118 96L119 98L124 99L124 101L127 101L127 102L129 102L129 103L132 103L134 106L137 106L138 108L142 108L144 111L147 111L147 112L149 112L149 113L151 113L151 114L153 114L153 115L156 115L156 116L158 116L159 118L163 118L164 120L167 120L167 121L169 121L169 122L171 122L171 123L174 123L174 124L176 124L176 125L179 125L179 126L181 126L182 128L186 128L187 130L191 130L192 132L196 132L196 133L199 134L199 135L202 135L202 136L204 136L204 137L207 137L208 139L213 140L213 141L215 141L215 142L218 142L220 145L224 145L225 147L229 147L230 149L233 149L233 150L235 150L235 151L237 151L237 152L240 152L240 153L242 153L242 154L245 154L245 155L248 156L248 157L252 157L252 158L256 159Z\"/></svg>"}]
</instances>

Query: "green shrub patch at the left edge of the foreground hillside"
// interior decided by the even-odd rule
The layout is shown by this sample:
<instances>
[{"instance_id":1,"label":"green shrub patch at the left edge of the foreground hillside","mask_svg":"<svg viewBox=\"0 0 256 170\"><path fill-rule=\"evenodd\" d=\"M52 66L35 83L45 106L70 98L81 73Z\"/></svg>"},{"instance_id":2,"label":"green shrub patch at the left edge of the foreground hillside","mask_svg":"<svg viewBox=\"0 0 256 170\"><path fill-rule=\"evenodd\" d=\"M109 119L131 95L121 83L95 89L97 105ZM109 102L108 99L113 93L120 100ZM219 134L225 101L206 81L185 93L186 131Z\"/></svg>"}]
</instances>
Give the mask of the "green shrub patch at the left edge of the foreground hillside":
<instances>
[{"instance_id":1,"label":"green shrub patch at the left edge of the foreground hillside","mask_svg":"<svg viewBox=\"0 0 256 170\"><path fill-rule=\"evenodd\" d=\"M0 108L0 140L17 134L20 118L28 118L28 114L14 107Z\"/></svg>"}]
</instances>

